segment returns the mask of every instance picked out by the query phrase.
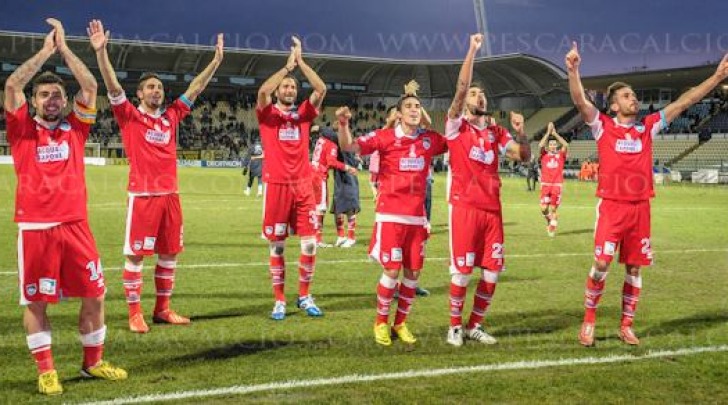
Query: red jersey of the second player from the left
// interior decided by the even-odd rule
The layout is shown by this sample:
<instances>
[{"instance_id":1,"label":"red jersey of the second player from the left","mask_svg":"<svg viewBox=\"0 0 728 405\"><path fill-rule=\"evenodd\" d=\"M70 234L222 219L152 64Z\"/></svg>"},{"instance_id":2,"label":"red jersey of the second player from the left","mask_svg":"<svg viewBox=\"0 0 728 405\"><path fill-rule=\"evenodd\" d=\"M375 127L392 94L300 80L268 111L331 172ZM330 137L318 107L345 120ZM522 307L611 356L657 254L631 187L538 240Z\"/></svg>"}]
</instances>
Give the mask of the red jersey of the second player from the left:
<instances>
[{"instance_id":1,"label":"red jersey of the second player from the left","mask_svg":"<svg viewBox=\"0 0 728 405\"><path fill-rule=\"evenodd\" d=\"M190 113L192 102L182 95L153 115L134 107L124 93L109 99L129 158L129 192L176 193L177 127Z\"/></svg>"}]
</instances>

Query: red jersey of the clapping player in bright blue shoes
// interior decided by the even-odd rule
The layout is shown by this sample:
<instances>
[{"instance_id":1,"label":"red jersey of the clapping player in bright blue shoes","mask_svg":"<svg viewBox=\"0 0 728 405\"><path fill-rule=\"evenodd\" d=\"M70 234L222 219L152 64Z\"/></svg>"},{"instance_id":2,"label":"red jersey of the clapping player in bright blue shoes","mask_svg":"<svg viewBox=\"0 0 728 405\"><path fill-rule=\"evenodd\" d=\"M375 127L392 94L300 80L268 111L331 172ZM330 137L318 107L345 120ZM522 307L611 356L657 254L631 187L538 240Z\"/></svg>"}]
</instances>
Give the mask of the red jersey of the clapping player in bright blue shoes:
<instances>
[{"instance_id":1,"label":"red jersey of the clapping player in bright blue shoes","mask_svg":"<svg viewBox=\"0 0 728 405\"><path fill-rule=\"evenodd\" d=\"M309 130L318 110L309 100L298 109L281 111L275 104L256 109L260 139L263 141L263 182L298 183L310 181L308 161Z\"/></svg>"}]
</instances>

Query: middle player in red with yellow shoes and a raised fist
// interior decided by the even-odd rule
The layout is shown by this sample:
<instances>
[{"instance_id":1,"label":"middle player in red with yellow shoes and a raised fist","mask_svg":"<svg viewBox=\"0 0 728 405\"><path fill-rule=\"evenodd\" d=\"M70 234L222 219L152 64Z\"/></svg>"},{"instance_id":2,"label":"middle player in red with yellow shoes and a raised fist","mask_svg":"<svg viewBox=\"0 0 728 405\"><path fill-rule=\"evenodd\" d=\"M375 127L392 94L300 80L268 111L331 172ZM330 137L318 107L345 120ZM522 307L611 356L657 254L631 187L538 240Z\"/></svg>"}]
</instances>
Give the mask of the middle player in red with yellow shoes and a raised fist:
<instances>
[{"instance_id":1,"label":"middle player in red with yellow shoes and a raised fist","mask_svg":"<svg viewBox=\"0 0 728 405\"><path fill-rule=\"evenodd\" d=\"M404 343L417 341L405 321L425 260L427 175L432 158L447 150L441 134L420 127L423 114L417 96L402 96L397 111L399 124L394 128L379 129L356 140L349 129L349 109L342 107L336 112L342 150L361 155L379 152L379 195L369 256L383 267L377 286L374 339L384 346L392 344L389 308L401 270L404 278L399 284L397 314L391 331Z\"/></svg>"}]
</instances>

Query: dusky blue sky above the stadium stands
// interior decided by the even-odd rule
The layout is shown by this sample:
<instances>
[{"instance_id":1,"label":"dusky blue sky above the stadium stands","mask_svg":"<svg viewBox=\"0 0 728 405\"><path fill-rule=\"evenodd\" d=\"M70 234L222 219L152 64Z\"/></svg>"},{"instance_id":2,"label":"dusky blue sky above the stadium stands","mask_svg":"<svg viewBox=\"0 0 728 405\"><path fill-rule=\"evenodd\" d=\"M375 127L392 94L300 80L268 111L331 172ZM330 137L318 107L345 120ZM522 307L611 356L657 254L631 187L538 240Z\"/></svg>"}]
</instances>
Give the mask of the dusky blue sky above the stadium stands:
<instances>
[{"instance_id":1,"label":"dusky blue sky above the stadium stands","mask_svg":"<svg viewBox=\"0 0 728 405\"><path fill-rule=\"evenodd\" d=\"M485 0L493 54L563 64L582 44L585 74L694 66L728 52L728 1ZM184 5L184 7L180 7ZM472 0L0 0L0 29L43 32L57 16L85 35L91 18L116 37L282 50L297 33L308 52L393 59L461 59L476 30Z\"/></svg>"}]
</instances>

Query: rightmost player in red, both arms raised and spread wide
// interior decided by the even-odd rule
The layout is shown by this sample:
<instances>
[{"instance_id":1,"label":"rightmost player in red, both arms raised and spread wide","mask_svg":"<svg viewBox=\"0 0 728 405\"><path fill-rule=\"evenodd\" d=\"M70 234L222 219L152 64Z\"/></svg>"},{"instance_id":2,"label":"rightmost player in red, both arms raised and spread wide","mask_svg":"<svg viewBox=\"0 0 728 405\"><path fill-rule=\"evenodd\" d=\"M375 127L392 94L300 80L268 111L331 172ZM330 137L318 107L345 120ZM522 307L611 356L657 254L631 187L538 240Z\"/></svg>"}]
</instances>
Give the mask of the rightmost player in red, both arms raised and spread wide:
<instances>
[{"instance_id":1,"label":"rightmost player in red, both arms raised and spread wide","mask_svg":"<svg viewBox=\"0 0 728 405\"><path fill-rule=\"evenodd\" d=\"M594 345L597 305L609 264L619 251L619 262L626 270L619 336L629 345L638 345L632 322L642 290L640 268L652 264L653 259L650 242L650 198L655 195L652 138L728 77L728 55L712 76L640 121L637 121L639 100L625 83L614 83L608 89L607 101L614 117L600 113L587 99L579 75L581 56L576 43L566 54L565 62L571 98L591 127L599 153L594 264L586 281L585 315L579 342L584 346Z\"/></svg>"}]
</instances>

